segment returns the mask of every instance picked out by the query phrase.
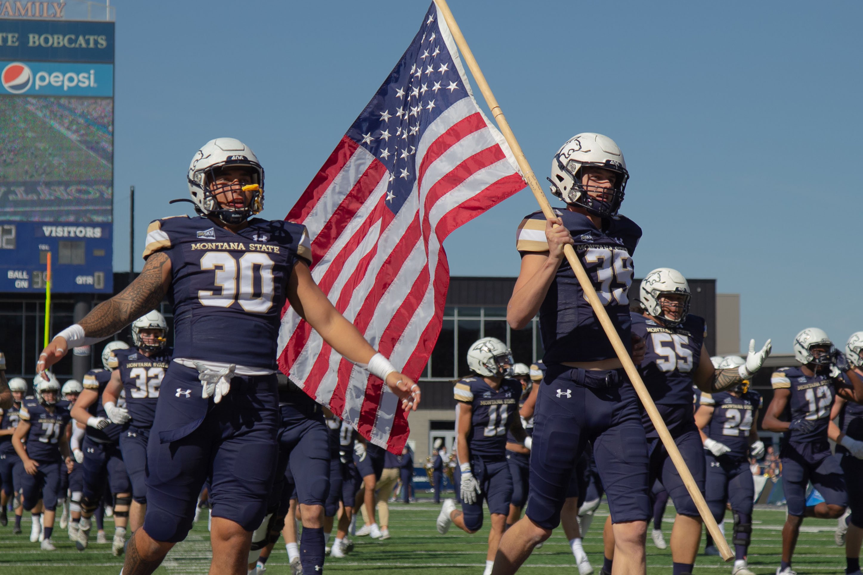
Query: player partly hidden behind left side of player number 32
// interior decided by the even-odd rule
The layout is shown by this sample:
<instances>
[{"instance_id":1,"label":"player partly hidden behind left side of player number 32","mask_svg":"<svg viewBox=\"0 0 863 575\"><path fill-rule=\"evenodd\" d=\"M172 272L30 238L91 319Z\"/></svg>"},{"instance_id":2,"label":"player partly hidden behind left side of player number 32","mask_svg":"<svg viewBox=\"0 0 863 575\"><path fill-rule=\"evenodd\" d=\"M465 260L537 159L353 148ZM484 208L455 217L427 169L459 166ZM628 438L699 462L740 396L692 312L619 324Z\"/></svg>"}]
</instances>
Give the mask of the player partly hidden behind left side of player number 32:
<instances>
[{"instance_id":1,"label":"player partly hidden behind left side of player number 32","mask_svg":"<svg viewBox=\"0 0 863 575\"><path fill-rule=\"evenodd\" d=\"M84 442L79 463L84 465L84 489L81 495L81 521L75 547L84 551L90 543L91 518L101 506L105 485L114 496L114 538L111 553L123 553L126 541L126 526L129 522L129 504L132 501L132 486L120 452L120 435L123 426L113 423L108 408L102 403L102 393L112 378L112 366L117 366L113 354L128 349L124 341L111 341L102 351L104 369L92 369L84 376L84 391L72 406L72 417L85 426ZM78 460L79 453L75 453ZM97 526L98 527L98 526Z\"/></svg>"}]
</instances>

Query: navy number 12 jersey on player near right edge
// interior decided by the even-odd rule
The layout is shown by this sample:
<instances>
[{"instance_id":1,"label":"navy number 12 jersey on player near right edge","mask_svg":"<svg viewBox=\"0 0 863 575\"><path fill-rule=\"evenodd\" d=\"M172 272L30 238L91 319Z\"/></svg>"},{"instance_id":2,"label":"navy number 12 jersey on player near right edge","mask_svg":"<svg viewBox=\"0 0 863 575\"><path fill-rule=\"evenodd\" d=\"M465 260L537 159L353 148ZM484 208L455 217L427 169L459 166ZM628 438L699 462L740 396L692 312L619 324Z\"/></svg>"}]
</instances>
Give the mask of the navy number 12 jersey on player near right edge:
<instances>
[{"instance_id":1,"label":"navy number 12 jersey on player near right edge","mask_svg":"<svg viewBox=\"0 0 863 575\"><path fill-rule=\"evenodd\" d=\"M828 375L809 377L800 367L783 367L773 372L770 383L774 390L791 391L791 421L803 418L815 423L815 428L809 433L799 430L786 431L785 440L793 443L815 440L826 442L835 386L841 385L841 382Z\"/></svg>"}]
</instances>

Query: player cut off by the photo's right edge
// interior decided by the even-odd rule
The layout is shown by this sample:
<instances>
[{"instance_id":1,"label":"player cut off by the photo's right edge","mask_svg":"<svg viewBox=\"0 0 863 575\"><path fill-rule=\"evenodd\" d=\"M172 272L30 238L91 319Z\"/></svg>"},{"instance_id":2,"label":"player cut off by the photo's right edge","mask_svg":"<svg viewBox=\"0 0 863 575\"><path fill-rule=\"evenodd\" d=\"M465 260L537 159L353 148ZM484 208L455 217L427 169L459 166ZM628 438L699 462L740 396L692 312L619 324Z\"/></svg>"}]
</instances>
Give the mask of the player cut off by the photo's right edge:
<instances>
[{"instance_id":1,"label":"player cut off by the photo's right edge","mask_svg":"<svg viewBox=\"0 0 863 575\"><path fill-rule=\"evenodd\" d=\"M863 377L863 331L855 332L845 346L848 363ZM837 427L833 421L839 418ZM836 545L845 546L846 573L860 575L860 543L863 542L863 405L836 397L830 411L830 439L835 441L836 456L848 493L848 511L839 518Z\"/></svg>"}]
</instances>

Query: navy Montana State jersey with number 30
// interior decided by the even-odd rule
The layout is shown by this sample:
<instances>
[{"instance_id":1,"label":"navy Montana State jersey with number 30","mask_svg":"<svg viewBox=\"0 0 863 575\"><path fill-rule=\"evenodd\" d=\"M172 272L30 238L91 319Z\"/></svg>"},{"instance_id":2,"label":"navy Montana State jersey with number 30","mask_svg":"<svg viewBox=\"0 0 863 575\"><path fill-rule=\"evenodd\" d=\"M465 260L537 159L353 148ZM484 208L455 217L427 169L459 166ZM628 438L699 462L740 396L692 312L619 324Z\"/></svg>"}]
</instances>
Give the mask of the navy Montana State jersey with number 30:
<instances>
[{"instance_id":1,"label":"navy Montana State jersey with number 30","mask_svg":"<svg viewBox=\"0 0 863 575\"><path fill-rule=\"evenodd\" d=\"M144 259L171 259L174 357L275 371L281 309L293 266L311 263L306 227L249 220L236 234L204 216L155 220Z\"/></svg>"}]
</instances>

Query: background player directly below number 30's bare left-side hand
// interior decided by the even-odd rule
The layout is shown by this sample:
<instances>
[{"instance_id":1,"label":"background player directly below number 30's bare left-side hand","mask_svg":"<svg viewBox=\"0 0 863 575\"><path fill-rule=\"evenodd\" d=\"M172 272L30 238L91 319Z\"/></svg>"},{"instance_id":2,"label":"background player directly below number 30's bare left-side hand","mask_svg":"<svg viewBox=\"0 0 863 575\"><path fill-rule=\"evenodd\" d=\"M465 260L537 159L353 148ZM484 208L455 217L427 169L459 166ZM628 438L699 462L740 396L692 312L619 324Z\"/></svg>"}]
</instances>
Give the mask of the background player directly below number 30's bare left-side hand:
<instances>
[{"instance_id":1,"label":"background player directly below number 30's bare left-side hand","mask_svg":"<svg viewBox=\"0 0 863 575\"><path fill-rule=\"evenodd\" d=\"M45 372L34 381L36 398L25 400L18 416L20 421L12 435L12 447L21 458L26 474L22 478L22 507L31 509L33 522L39 522L37 507L42 500L42 551L54 551L54 510L60 495L60 466L72 467L66 432L72 417L58 405L60 382ZM25 445L22 441L27 441Z\"/></svg>"}]
</instances>

